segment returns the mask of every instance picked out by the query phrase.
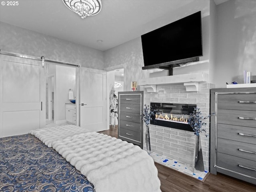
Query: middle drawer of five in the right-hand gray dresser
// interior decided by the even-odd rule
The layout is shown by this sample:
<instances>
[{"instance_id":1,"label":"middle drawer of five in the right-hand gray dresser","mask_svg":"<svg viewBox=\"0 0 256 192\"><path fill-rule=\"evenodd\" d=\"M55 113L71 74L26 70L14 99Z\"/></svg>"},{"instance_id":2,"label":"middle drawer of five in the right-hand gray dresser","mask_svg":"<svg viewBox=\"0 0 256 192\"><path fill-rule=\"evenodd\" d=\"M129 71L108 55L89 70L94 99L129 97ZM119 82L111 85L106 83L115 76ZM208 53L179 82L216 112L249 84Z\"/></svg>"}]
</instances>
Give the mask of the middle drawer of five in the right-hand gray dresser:
<instances>
[{"instance_id":1,"label":"middle drawer of five in the right-hand gray dresser","mask_svg":"<svg viewBox=\"0 0 256 192\"><path fill-rule=\"evenodd\" d=\"M217 137L256 144L256 128L236 125L217 124Z\"/></svg>"}]
</instances>

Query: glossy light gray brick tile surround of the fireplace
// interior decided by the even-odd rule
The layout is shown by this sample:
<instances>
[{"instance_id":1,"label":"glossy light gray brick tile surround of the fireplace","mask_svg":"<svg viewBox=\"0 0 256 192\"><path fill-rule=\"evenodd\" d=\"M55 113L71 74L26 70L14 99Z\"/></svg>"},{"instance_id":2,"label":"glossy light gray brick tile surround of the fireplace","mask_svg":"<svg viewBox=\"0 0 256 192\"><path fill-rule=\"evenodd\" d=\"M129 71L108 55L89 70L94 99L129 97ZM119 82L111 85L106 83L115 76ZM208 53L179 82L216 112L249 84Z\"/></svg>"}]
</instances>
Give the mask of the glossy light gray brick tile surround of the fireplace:
<instances>
[{"instance_id":1,"label":"glossy light gray brick tile surround of the fireplace","mask_svg":"<svg viewBox=\"0 0 256 192\"><path fill-rule=\"evenodd\" d=\"M156 92L144 92L144 104L150 106L150 102L196 104L207 116L210 113L210 89L213 84L198 82L198 91L186 91L183 83L156 85ZM209 119L206 122L206 131L209 135ZM195 135L194 132L149 125L151 151L166 157L193 164ZM145 134L144 134L145 135ZM209 137L201 133L204 168L209 170Z\"/></svg>"}]
</instances>

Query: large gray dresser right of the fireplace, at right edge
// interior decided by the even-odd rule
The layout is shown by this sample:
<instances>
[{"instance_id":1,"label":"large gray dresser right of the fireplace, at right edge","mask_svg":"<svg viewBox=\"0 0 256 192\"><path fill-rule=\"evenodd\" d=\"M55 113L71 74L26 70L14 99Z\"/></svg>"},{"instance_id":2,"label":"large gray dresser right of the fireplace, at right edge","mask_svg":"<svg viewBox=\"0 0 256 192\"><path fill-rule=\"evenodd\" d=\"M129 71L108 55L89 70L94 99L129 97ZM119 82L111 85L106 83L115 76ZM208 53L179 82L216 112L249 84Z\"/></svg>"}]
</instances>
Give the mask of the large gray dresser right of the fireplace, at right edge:
<instances>
[{"instance_id":1,"label":"large gray dresser right of the fireplace, at right edge","mask_svg":"<svg viewBox=\"0 0 256 192\"><path fill-rule=\"evenodd\" d=\"M211 89L210 172L256 184L256 88Z\"/></svg>"}]
</instances>

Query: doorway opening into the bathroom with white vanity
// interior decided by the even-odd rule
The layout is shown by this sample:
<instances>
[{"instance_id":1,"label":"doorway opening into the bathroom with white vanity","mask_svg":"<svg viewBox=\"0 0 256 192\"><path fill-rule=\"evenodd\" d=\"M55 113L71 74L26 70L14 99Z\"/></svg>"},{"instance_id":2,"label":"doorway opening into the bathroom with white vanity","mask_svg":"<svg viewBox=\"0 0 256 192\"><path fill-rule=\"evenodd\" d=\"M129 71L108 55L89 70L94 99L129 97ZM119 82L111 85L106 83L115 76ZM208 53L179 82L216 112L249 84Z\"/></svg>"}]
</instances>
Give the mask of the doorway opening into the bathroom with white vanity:
<instances>
[{"instance_id":1,"label":"doorway opening into the bathroom with white vanity","mask_svg":"<svg viewBox=\"0 0 256 192\"><path fill-rule=\"evenodd\" d=\"M62 123L76 125L76 104L72 103L69 97L69 92L72 90L73 100L76 100L76 67L57 65L55 63L47 63L45 66L46 127ZM70 105L75 110L74 117L72 115L72 121L67 118L66 109L70 108L67 105Z\"/></svg>"}]
</instances>

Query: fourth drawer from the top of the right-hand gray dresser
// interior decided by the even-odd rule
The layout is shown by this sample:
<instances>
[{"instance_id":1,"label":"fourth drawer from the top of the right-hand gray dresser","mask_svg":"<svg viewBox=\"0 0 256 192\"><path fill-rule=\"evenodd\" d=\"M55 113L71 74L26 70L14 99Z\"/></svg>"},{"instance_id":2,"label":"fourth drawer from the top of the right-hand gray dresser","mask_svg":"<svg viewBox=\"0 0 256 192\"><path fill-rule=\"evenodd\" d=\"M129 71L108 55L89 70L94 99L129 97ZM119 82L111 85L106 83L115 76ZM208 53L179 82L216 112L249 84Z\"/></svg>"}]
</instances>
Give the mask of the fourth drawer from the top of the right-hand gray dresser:
<instances>
[{"instance_id":1,"label":"fourth drawer from the top of the right-hand gray dresser","mask_svg":"<svg viewBox=\"0 0 256 192\"><path fill-rule=\"evenodd\" d=\"M256 161L256 145L254 144L218 138L217 148L220 153Z\"/></svg>"}]
</instances>

